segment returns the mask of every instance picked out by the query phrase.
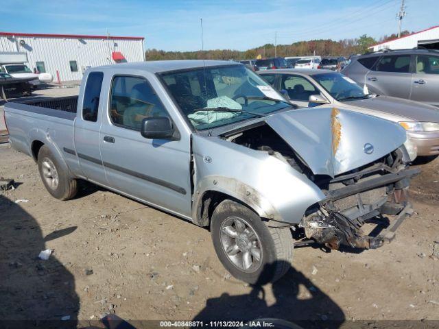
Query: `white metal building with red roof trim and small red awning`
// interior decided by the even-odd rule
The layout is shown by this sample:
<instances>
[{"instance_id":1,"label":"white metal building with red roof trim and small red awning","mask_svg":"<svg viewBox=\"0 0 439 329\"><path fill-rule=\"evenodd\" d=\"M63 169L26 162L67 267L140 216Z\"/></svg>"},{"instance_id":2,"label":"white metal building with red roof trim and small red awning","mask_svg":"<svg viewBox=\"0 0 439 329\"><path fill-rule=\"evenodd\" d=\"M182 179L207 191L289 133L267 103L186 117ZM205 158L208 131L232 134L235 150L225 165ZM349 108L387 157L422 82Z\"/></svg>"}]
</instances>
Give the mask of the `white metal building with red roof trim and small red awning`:
<instances>
[{"instance_id":1,"label":"white metal building with red roof trim and small red awning","mask_svg":"<svg viewBox=\"0 0 439 329\"><path fill-rule=\"evenodd\" d=\"M91 66L145 60L142 37L0 32L0 53L27 53L27 66L54 82L81 80ZM58 72L58 73L57 73Z\"/></svg>"}]
</instances>

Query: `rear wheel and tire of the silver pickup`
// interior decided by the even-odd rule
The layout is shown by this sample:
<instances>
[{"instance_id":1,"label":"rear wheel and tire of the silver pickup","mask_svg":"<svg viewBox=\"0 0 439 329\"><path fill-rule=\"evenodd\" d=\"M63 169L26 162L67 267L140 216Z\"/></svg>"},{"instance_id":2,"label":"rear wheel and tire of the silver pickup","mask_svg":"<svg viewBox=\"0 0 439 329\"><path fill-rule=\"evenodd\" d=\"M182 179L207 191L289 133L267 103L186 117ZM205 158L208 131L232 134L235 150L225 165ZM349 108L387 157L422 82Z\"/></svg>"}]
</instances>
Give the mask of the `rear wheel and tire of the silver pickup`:
<instances>
[{"instance_id":1,"label":"rear wheel and tire of the silver pickup","mask_svg":"<svg viewBox=\"0 0 439 329\"><path fill-rule=\"evenodd\" d=\"M78 192L77 180L70 177L46 145L38 151L38 171L45 188L53 197L60 200L75 197Z\"/></svg>"}]
</instances>

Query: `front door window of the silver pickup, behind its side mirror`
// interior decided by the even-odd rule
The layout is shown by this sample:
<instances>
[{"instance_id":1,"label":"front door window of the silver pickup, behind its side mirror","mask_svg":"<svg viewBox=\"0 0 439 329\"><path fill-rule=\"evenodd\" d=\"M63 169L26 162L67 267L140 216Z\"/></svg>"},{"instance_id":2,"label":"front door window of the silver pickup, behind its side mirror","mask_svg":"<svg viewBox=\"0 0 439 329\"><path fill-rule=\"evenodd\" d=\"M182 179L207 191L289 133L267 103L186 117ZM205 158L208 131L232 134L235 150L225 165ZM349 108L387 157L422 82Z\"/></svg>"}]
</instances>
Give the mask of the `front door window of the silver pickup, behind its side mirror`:
<instances>
[{"instance_id":1,"label":"front door window of the silver pickup, behind its side mirror","mask_svg":"<svg viewBox=\"0 0 439 329\"><path fill-rule=\"evenodd\" d=\"M148 117L168 117L168 114L147 80L142 77L114 77L111 121L121 127L140 130L142 120Z\"/></svg>"}]
</instances>

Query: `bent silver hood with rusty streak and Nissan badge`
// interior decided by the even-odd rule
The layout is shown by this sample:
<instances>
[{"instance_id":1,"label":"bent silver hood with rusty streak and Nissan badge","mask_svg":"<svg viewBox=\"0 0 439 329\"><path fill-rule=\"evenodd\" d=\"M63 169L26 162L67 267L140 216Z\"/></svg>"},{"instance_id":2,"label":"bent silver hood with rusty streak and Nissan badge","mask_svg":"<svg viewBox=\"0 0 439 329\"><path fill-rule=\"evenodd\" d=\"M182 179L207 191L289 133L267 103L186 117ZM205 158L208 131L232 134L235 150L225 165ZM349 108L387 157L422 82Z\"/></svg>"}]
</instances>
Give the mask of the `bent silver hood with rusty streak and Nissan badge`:
<instances>
[{"instance_id":1,"label":"bent silver hood with rusty streak and Nissan badge","mask_svg":"<svg viewBox=\"0 0 439 329\"><path fill-rule=\"evenodd\" d=\"M406 139L396 123L341 108L291 110L265 122L315 175L331 177L389 154Z\"/></svg>"}]
</instances>

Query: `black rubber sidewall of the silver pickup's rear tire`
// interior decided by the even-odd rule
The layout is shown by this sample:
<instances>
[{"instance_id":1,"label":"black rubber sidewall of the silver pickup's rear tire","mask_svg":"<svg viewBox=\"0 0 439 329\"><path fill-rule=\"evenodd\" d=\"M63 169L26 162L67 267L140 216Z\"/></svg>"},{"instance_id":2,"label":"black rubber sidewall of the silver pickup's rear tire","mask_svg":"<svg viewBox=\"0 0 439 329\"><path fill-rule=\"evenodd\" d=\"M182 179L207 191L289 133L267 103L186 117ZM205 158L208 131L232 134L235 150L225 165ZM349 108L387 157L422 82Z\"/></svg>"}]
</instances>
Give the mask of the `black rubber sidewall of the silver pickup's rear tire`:
<instances>
[{"instance_id":1,"label":"black rubber sidewall of the silver pickup's rear tire","mask_svg":"<svg viewBox=\"0 0 439 329\"><path fill-rule=\"evenodd\" d=\"M43 175L43 159L49 158L51 162L54 163L56 172L58 173L58 186L56 189L51 188ZM46 145L43 145L40 148L40 151L38 151L38 171L40 172L41 180L43 181L43 184L47 191L53 196L56 197L56 199L64 199L66 197L68 186L69 186L69 175L67 174L67 171L60 165L60 162L56 159L55 156L51 153L49 147Z\"/></svg>"}]
</instances>

